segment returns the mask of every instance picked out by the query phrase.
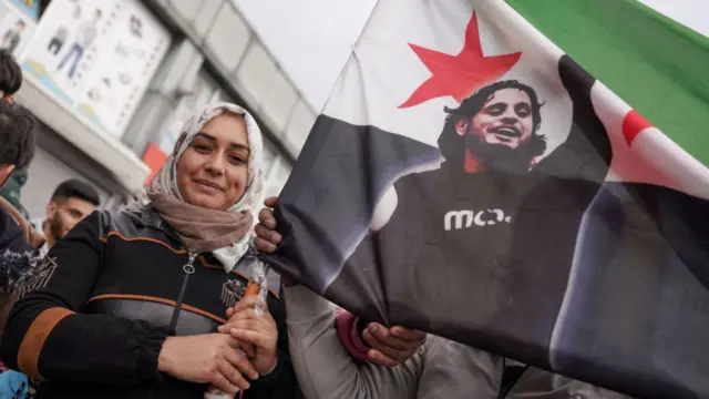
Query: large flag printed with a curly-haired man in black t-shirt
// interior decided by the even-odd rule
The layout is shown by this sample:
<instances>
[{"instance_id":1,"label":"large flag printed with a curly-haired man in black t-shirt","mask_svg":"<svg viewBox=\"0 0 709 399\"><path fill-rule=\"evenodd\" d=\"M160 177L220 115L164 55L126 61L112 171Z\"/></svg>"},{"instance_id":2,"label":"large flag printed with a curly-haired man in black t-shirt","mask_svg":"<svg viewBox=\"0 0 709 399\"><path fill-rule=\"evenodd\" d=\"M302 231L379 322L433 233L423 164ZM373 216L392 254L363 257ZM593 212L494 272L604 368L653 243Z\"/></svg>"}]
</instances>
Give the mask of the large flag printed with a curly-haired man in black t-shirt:
<instances>
[{"instance_id":1,"label":"large flag printed with a curly-haired man in black t-shirt","mask_svg":"<svg viewBox=\"0 0 709 399\"><path fill-rule=\"evenodd\" d=\"M705 125L678 113L667 135L596 80L541 31L572 42L558 16L587 32L599 12L556 3L380 0L279 197L268 260L371 320L633 396L707 397L709 170L706 147L680 146ZM690 42L613 3L636 35ZM664 65L675 83L654 101L706 114L707 88L676 83L698 66Z\"/></svg>"}]
</instances>

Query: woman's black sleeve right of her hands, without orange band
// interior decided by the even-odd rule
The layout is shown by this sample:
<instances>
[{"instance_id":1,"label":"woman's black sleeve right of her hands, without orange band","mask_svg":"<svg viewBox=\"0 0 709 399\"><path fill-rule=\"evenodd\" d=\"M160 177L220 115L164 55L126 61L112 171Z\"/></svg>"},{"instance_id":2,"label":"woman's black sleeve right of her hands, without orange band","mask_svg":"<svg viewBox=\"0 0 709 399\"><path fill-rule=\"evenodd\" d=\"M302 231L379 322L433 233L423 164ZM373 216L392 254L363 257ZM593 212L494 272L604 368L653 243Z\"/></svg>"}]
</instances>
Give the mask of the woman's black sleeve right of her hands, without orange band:
<instances>
[{"instance_id":1,"label":"woman's black sleeve right of her hands, without orange band","mask_svg":"<svg viewBox=\"0 0 709 399\"><path fill-rule=\"evenodd\" d=\"M282 298L282 288L279 295ZM290 362L288 350L288 327L286 326L286 307L282 300L269 295L268 309L276 320L278 328L278 365L274 372L250 381L251 387L245 392L244 399L288 399L299 398L298 380Z\"/></svg>"}]
</instances>

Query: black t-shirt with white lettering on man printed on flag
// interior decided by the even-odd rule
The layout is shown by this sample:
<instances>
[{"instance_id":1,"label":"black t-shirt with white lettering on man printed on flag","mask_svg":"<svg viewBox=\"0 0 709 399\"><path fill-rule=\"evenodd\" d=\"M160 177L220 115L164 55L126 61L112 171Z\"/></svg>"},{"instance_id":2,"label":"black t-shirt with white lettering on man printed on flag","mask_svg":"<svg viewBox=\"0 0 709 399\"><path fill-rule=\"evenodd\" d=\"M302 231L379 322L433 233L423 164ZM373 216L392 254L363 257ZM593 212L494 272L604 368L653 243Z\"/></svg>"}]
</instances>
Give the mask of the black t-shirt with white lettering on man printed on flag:
<instances>
[{"instance_id":1,"label":"black t-shirt with white lettering on man printed on flag","mask_svg":"<svg viewBox=\"0 0 709 399\"><path fill-rule=\"evenodd\" d=\"M349 263L381 275L393 324L463 342L480 344L479 331L489 350L546 364L579 225L607 171L577 154L564 145L526 173L444 163L404 176L390 221Z\"/></svg>"}]
</instances>

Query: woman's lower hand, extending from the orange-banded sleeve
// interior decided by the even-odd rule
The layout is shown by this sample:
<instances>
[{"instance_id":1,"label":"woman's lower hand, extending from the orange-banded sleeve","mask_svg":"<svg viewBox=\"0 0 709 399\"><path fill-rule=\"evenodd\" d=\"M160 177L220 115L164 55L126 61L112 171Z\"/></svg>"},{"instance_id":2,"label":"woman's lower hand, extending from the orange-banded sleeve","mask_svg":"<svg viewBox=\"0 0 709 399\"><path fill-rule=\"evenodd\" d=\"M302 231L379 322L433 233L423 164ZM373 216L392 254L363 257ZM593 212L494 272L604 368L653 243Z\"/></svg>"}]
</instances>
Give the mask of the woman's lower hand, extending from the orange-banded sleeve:
<instances>
[{"instance_id":1,"label":"woman's lower hand, extending from the orange-banded sleeve","mask_svg":"<svg viewBox=\"0 0 709 399\"><path fill-rule=\"evenodd\" d=\"M157 368L181 380L207 383L228 393L248 389L258 378L248 359L237 348L238 339L226 334L168 337L157 359Z\"/></svg>"}]
</instances>

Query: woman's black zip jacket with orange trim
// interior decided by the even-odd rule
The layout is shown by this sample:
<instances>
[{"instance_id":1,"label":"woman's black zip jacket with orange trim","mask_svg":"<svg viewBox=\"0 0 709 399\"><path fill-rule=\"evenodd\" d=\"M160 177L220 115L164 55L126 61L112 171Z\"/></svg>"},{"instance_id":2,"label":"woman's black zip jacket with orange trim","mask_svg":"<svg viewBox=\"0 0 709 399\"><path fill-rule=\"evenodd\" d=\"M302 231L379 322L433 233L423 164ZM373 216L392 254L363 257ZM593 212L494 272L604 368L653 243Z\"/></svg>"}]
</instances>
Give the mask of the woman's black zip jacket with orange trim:
<instances>
[{"instance_id":1,"label":"woman's black zip jacket with orange trim","mask_svg":"<svg viewBox=\"0 0 709 399\"><path fill-rule=\"evenodd\" d=\"M227 275L202 254L188 275L188 259L150 208L94 212L52 247L34 290L14 306L2 359L42 380L38 398L203 398L206 386L161 374L157 356L168 335L215 332L226 321L227 305L248 283L243 273L249 262L245 257ZM268 307L278 324L278 366L251 381L245 399L296 396L275 293Z\"/></svg>"}]
</instances>

